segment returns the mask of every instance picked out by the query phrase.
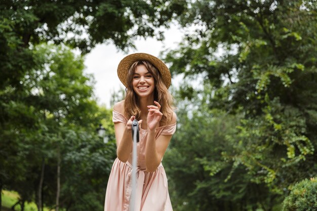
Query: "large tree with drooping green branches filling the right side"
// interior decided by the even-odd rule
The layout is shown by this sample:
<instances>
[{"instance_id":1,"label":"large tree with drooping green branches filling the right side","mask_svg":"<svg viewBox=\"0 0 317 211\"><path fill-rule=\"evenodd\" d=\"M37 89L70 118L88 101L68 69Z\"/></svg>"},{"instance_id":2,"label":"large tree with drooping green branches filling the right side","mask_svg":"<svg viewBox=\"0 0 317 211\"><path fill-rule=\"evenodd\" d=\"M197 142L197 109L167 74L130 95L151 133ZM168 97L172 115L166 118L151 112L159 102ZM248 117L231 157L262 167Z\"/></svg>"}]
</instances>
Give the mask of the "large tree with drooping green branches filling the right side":
<instances>
[{"instance_id":1,"label":"large tree with drooping green branches filling the right side","mask_svg":"<svg viewBox=\"0 0 317 211\"><path fill-rule=\"evenodd\" d=\"M241 117L230 135L236 144L222 153L232 171L243 168L252 184L287 194L316 171L316 2L195 1L188 8L178 20L195 31L165 61L184 80L204 79L211 110ZM181 94L195 95L190 86Z\"/></svg>"}]
</instances>

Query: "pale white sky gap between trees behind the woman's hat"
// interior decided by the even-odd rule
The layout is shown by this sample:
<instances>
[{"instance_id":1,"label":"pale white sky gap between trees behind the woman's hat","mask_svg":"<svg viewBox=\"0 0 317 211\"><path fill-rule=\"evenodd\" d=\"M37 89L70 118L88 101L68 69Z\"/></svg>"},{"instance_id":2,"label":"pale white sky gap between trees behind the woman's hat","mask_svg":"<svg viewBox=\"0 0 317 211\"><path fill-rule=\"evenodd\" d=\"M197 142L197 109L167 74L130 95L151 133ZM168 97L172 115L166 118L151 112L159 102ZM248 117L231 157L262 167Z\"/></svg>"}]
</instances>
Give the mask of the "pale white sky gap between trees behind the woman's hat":
<instances>
[{"instance_id":1,"label":"pale white sky gap between trees behind the woman's hat","mask_svg":"<svg viewBox=\"0 0 317 211\"><path fill-rule=\"evenodd\" d=\"M165 40L163 41L157 41L155 38L136 40L135 46L137 49L130 50L129 53L117 50L113 44L100 44L85 56L85 73L93 74L95 78L94 93L99 105L110 108L111 93L124 88L117 76L116 69L125 56L132 53L148 53L159 57L161 51L177 48L183 30L172 24L169 29L165 29L164 34ZM177 80L177 78L172 80Z\"/></svg>"}]
</instances>

